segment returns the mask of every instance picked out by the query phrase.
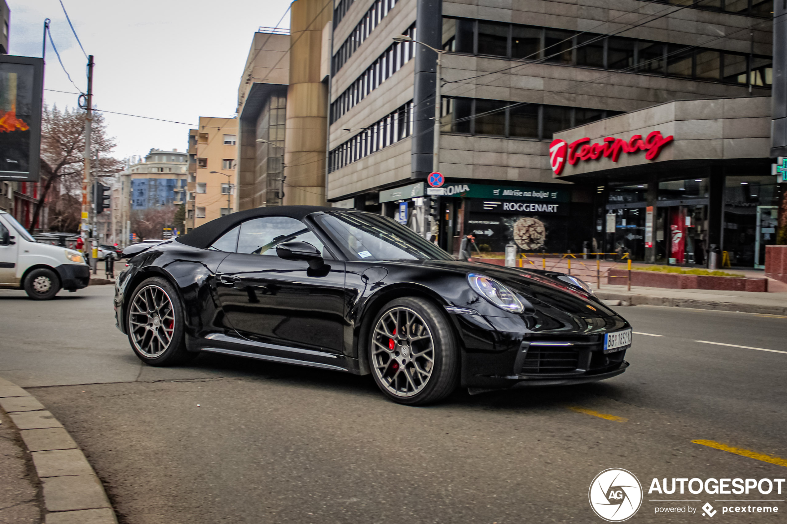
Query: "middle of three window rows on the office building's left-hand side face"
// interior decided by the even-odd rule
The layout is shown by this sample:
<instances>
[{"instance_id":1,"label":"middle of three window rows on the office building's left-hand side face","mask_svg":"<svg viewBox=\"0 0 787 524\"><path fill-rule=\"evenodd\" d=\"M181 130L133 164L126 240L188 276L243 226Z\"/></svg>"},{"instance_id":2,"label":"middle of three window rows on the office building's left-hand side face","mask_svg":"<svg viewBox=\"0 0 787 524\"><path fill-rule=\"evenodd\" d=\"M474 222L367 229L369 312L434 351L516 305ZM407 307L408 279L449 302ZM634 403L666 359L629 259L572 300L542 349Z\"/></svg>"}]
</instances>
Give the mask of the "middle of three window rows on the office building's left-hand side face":
<instances>
[{"instance_id":1,"label":"middle of three window rows on the office building's left-hand side face","mask_svg":"<svg viewBox=\"0 0 787 524\"><path fill-rule=\"evenodd\" d=\"M403 35L416 39L416 24L408 27ZM394 42L386 49L344 93L331 102L331 123L336 122L345 112L362 101L366 95L385 82L416 56L415 42Z\"/></svg>"}]
</instances>

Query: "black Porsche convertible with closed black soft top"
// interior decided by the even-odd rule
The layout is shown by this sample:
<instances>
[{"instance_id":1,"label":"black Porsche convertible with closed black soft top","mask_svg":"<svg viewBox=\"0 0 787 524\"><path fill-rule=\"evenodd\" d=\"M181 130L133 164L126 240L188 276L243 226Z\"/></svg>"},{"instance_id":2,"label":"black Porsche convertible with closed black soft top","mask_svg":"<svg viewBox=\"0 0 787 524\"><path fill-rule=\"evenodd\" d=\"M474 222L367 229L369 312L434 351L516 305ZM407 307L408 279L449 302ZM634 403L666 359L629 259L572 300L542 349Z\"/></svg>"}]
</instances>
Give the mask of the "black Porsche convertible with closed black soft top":
<instances>
[{"instance_id":1,"label":"black Porsche convertible with closed black soft top","mask_svg":"<svg viewBox=\"0 0 787 524\"><path fill-rule=\"evenodd\" d=\"M629 365L630 325L582 280L459 262L378 214L261 207L150 245L135 248L114 299L117 327L150 365L205 351L371 373L410 405Z\"/></svg>"}]
</instances>

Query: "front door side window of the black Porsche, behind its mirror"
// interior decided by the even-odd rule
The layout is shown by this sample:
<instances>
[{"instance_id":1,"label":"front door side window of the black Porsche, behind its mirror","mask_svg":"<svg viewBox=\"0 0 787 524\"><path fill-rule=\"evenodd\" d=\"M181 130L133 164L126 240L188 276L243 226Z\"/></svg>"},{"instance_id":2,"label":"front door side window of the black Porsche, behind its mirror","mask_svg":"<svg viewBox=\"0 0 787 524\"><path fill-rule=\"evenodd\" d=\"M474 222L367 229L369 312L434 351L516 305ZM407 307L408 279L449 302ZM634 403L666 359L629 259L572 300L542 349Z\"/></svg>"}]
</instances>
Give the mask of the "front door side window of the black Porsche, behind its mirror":
<instances>
[{"instance_id":1,"label":"front door side window of the black Porsche, behind its mirror","mask_svg":"<svg viewBox=\"0 0 787 524\"><path fill-rule=\"evenodd\" d=\"M238 253L276 255L275 247L290 240L309 242L324 253L323 243L300 220L290 217L261 217L243 222L238 235Z\"/></svg>"}]
</instances>

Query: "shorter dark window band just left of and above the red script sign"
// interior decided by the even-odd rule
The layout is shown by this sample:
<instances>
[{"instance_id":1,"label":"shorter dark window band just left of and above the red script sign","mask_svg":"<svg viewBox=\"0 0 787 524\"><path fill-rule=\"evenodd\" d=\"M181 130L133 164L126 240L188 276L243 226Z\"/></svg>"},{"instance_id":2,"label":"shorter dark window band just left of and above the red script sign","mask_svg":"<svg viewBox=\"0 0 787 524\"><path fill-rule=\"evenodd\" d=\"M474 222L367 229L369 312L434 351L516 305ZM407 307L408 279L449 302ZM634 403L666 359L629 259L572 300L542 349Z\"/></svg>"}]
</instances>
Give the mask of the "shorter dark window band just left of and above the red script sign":
<instances>
[{"instance_id":1,"label":"shorter dark window band just left of and above the red script sign","mask_svg":"<svg viewBox=\"0 0 787 524\"><path fill-rule=\"evenodd\" d=\"M569 108L549 104L517 104L486 98L452 97L443 104L444 133L488 134L548 140L574 126L620 115L620 111Z\"/></svg>"}]
</instances>

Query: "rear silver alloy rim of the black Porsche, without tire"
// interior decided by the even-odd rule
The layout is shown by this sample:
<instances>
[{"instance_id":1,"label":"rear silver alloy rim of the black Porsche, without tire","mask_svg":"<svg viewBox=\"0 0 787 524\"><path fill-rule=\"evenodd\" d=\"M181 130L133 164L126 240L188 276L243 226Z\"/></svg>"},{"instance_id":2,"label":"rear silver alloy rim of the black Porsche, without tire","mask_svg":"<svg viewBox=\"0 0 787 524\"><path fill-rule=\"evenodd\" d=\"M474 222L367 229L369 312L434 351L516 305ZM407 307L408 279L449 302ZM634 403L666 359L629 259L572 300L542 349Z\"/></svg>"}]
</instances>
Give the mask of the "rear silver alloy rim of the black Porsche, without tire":
<instances>
[{"instance_id":1,"label":"rear silver alloy rim of the black Porsche, without tire","mask_svg":"<svg viewBox=\"0 0 787 524\"><path fill-rule=\"evenodd\" d=\"M128 330L139 353L150 358L164 353L175 331L175 308L167 291L156 285L140 289L128 312Z\"/></svg>"}]
</instances>

